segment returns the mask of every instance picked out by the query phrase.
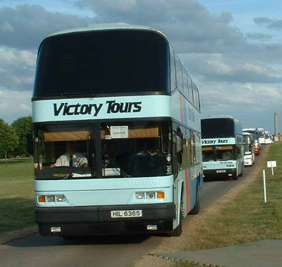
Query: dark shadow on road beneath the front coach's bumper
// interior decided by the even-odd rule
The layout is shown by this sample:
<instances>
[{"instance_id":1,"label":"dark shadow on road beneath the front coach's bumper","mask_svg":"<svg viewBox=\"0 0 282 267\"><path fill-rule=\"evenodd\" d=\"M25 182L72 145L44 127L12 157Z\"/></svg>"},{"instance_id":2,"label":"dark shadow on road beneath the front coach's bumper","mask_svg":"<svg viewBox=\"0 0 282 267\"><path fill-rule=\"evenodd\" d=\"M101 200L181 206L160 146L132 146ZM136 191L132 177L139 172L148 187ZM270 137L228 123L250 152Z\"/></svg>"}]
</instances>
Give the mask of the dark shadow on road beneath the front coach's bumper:
<instances>
[{"instance_id":1,"label":"dark shadow on road beneath the front coach's bumper","mask_svg":"<svg viewBox=\"0 0 282 267\"><path fill-rule=\"evenodd\" d=\"M143 243L149 239L149 235L114 235L114 236L87 236L74 237L65 240L59 236L41 236L33 234L22 239L6 243L14 247L46 247L46 246L67 246L67 245L120 245Z\"/></svg>"}]
</instances>

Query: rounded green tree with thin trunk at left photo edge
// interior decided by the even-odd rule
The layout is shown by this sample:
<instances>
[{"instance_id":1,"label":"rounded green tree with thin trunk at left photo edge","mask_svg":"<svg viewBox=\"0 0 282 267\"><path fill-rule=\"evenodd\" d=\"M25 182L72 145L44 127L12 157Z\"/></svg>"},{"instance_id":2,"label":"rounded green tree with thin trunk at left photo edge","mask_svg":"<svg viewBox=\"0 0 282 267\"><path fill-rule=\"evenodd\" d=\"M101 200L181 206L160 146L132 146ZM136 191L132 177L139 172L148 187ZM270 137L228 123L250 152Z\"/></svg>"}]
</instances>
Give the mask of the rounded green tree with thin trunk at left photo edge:
<instances>
[{"instance_id":1,"label":"rounded green tree with thin trunk at left photo edge","mask_svg":"<svg viewBox=\"0 0 282 267\"><path fill-rule=\"evenodd\" d=\"M18 144L19 138L15 129L4 120L0 119L0 147L4 150L6 166L8 155L16 149Z\"/></svg>"}]
</instances>

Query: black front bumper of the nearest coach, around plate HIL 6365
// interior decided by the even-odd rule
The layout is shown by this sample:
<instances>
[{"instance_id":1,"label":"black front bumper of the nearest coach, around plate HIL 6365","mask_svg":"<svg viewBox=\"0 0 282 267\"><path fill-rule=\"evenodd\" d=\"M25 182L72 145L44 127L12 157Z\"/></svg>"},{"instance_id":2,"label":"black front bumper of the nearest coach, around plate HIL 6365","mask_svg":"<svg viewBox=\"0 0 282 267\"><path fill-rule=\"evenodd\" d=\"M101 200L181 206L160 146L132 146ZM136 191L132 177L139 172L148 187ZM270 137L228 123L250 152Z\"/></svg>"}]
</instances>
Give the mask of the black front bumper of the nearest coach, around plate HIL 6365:
<instances>
[{"instance_id":1,"label":"black front bumper of the nearest coach, around plate HIL 6365","mask_svg":"<svg viewBox=\"0 0 282 267\"><path fill-rule=\"evenodd\" d=\"M111 211L142 210L142 217L111 218ZM36 222L42 235L97 235L164 233L173 230L174 203L107 205L87 207L36 207ZM157 225L157 230L147 230ZM60 227L60 232L51 232Z\"/></svg>"}]
</instances>

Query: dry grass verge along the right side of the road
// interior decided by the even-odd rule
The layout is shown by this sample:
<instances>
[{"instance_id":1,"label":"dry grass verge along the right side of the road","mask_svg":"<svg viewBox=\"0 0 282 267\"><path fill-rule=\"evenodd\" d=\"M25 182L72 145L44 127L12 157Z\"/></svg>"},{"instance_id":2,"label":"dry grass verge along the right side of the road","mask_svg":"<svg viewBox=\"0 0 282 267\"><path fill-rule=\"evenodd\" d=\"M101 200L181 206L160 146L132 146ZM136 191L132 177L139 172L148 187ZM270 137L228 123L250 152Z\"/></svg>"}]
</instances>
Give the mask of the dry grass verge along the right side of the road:
<instances>
[{"instance_id":1,"label":"dry grass verge along the right side of the road","mask_svg":"<svg viewBox=\"0 0 282 267\"><path fill-rule=\"evenodd\" d=\"M209 249L242 244L260 239L282 239L282 143L266 146L258 167L247 179L184 223L181 237L165 238L150 253ZM274 175L267 160L276 160ZM257 164L257 163L256 163ZM266 170L267 203L263 200L262 169ZM175 262L146 255L136 262L141 266L199 265Z\"/></svg>"}]
</instances>

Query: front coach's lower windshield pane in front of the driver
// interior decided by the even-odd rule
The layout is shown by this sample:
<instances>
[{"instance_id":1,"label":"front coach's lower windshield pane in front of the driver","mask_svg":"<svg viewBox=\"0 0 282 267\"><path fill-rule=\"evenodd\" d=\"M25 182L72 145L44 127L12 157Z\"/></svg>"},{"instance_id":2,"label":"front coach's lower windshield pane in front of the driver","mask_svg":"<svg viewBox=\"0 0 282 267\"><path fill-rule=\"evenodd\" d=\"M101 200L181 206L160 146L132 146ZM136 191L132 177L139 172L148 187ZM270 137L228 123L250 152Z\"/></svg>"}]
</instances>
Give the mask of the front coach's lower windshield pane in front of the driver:
<instances>
[{"instance_id":1,"label":"front coach's lower windshield pane in front of the driver","mask_svg":"<svg viewBox=\"0 0 282 267\"><path fill-rule=\"evenodd\" d=\"M68 180L95 177L91 126L46 125L35 129L35 179Z\"/></svg>"}]
</instances>

